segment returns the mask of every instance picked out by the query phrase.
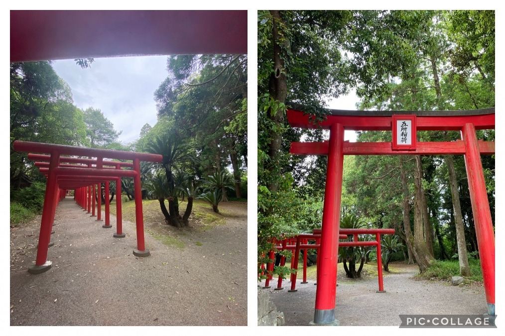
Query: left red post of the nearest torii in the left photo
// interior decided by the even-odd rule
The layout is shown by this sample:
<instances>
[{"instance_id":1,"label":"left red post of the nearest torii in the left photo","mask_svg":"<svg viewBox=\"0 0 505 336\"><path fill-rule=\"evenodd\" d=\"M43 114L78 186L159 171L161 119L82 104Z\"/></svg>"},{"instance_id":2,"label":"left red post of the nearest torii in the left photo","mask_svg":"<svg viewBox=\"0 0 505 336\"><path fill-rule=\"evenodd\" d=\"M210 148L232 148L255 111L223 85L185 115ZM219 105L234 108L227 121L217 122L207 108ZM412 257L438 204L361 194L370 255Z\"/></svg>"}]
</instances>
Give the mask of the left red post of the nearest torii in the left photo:
<instances>
[{"instance_id":1,"label":"left red post of the nearest torii in the left photo","mask_svg":"<svg viewBox=\"0 0 505 336\"><path fill-rule=\"evenodd\" d=\"M42 207L42 219L40 221L40 233L38 236L37 258L35 266L28 267L28 272L38 274L45 272L53 263L47 260L47 250L51 240L51 223L53 221L53 204L57 202L58 196L58 177L52 174L53 170L60 163L60 154L54 151L49 161L49 173L45 186L44 205Z\"/></svg>"}]
</instances>

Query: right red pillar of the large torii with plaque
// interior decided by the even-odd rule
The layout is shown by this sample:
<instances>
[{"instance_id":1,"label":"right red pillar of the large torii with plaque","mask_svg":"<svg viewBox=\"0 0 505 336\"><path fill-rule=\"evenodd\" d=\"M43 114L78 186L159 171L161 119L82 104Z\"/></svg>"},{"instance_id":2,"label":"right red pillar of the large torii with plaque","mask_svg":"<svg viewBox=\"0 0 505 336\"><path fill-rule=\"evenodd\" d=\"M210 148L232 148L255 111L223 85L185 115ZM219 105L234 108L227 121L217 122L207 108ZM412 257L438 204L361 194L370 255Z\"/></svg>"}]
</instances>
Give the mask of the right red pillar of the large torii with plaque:
<instances>
[{"instance_id":1,"label":"right red pillar of the large torii with plaque","mask_svg":"<svg viewBox=\"0 0 505 336\"><path fill-rule=\"evenodd\" d=\"M466 148L465 165L475 222L475 234L479 247L480 266L486 292L487 311L489 315L494 316L494 231L489 200L487 199L486 182L482 172L479 144L474 125L465 124L461 133Z\"/></svg>"}]
</instances>

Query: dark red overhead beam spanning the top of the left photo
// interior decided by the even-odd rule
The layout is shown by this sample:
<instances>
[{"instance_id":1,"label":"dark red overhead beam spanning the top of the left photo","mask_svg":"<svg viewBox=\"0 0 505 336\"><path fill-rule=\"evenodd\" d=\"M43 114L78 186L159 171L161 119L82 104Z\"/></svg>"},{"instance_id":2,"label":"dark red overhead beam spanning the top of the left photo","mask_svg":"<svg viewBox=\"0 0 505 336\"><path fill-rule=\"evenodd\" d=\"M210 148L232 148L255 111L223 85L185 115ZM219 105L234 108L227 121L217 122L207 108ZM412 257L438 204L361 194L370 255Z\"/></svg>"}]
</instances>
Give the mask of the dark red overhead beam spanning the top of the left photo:
<instances>
[{"instance_id":1,"label":"dark red overhead beam spanning the top of the left photo","mask_svg":"<svg viewBox=\"0 0 505 336\"><path fill-rule=\"evenodd\" d=\"M247 11L11 11L11 62L247 53Z\"/></svg>"}]
</instances>

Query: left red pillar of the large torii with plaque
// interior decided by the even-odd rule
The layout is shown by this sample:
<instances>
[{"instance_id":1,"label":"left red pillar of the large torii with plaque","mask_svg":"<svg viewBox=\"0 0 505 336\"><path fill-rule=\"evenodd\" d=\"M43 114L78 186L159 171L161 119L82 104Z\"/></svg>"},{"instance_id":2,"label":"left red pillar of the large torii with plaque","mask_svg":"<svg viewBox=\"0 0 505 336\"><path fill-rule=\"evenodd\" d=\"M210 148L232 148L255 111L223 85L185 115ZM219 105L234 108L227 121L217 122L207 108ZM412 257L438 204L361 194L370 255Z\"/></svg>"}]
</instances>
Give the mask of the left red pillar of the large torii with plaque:
<instances>
[{"instance_id":1,"label":"left red pillar of the large torii with plaque","mask_svg":"<svg viewBox=\"0 0 505 336\"><path fill-rule=\"evenodd\" d=\"M335 319L337 287L338 231L340 201L342 198L344 129L341 124L331 124L328 142L328 168L324 192L323 223L317 275L316 305L311 324L338 325Z\"/></svg>"}]
</instances>

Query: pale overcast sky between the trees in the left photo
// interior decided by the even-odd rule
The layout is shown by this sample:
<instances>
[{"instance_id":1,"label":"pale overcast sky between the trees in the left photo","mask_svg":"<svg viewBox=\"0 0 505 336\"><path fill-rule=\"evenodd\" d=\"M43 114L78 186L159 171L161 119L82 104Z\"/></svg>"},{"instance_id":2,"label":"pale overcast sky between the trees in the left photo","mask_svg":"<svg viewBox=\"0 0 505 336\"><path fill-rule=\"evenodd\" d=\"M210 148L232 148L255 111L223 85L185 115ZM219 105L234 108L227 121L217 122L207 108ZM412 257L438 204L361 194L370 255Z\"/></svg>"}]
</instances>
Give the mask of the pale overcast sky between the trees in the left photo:
<instances>
[{"instance_id":1,"label":"pale overcast sky between the trees in the left photo","mask_svg":"<svg viewBox=\"0 0 505 336\"><path fill-rule=\"evenodd\" d=\"M138 139L145 123L156 124L154 92L167 77L166 56L94 59L91 68L81 69L74 60L54 61L53 68L65 80L82 110L101 110L123 131L123 144Z\"/></svg>"}]
</instances>

